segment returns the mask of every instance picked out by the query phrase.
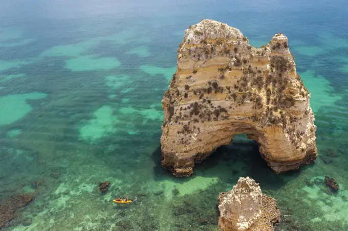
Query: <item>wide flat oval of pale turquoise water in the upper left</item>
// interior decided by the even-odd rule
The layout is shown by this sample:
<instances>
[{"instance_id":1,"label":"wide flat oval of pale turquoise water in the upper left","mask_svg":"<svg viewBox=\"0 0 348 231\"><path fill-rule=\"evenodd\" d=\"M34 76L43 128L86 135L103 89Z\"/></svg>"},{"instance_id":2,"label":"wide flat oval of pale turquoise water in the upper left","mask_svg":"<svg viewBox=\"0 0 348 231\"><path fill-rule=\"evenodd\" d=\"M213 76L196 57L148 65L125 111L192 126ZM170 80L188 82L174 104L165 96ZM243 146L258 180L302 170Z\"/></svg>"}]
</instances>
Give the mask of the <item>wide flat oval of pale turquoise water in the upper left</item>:
<instances>
[{"instance_id":1,"label":"wide flat oval of pale turquoise water in the upper left","mask_svg":"<svg viewBox=\"0 0 348 231\"><path fill-rule=\"evenodd\" d=\"M66 67L73 72L110 70L119 67L120 61L111 57L95 57L92 55L68 59Z\"/></svg>"}]
</instances>

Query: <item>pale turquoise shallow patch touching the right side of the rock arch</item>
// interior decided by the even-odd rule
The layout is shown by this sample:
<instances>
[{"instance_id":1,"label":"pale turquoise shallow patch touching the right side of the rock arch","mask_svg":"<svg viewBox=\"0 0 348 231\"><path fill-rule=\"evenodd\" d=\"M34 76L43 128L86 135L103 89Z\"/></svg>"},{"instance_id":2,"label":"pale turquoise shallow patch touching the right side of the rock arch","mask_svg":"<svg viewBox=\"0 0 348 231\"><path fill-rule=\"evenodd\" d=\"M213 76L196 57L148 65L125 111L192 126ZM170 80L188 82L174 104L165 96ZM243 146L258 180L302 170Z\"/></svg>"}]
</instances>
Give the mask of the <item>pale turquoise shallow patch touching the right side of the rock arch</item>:
<instances>
[{"instance_id":1,"label":"pale turquoise shallow patch touching the right side of the rock arch","mask_svg":"<svg viewBox=\"0 0 348 231\"><path fill-rule=\"evenodd\" d=\"M330 86L330 81L324 77L314 77L313 72L300 73L300 76L311 94L310 105L313 112L317 112L322 106L331 106L342 99L341 96L334 94L335 90Z\"/></svg>"}]
</instances>

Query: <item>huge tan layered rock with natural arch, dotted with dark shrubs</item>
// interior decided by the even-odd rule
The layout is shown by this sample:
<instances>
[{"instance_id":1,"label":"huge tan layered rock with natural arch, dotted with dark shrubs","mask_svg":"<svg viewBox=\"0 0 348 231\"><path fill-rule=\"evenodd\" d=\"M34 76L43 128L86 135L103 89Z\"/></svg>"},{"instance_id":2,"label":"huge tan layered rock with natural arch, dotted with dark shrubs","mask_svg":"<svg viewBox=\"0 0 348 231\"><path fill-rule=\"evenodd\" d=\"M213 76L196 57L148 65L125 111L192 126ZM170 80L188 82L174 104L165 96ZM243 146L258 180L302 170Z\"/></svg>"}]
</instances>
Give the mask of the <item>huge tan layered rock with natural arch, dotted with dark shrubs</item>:
<instances>
[{"instance_id":1,"label":"huge tan layered rock with natural arch, dotted with dark shrubs","mask_svg":"<svg viewBox=\"0 0 348 231\"><path fill-rule=\"evenodd\" d=\"M185 31L177 72L162 104L162 165L192 174L235 134L247 134L276 173L317 157L310 94L296 74L288 38L260 48L235 28L202 20Z\"/></svg>"}]
</instances>

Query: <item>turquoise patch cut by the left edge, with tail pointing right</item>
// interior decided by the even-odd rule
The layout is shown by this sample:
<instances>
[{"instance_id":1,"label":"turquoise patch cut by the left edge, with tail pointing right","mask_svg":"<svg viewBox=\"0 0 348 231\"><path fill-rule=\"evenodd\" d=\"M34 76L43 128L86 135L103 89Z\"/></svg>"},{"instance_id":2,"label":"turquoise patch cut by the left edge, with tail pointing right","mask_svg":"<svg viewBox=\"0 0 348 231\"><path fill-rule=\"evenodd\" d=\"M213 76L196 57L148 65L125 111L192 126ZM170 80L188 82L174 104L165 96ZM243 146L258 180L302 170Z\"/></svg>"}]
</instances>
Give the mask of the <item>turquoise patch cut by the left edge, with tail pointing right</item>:
<instances>
[{"instance_id":1,"label":"turquoise patch cut by the left edge, with tail pointing right","mask_svg":"<svg viewBox=\"0 0 348 231\"><path fill-rule=\"evenodd\" d=\"M43 93L28 93L0 97L0 126L12 124L25 117L33 108L26 103L27 99L45 98Z\"/></svg>"}]
</instances>

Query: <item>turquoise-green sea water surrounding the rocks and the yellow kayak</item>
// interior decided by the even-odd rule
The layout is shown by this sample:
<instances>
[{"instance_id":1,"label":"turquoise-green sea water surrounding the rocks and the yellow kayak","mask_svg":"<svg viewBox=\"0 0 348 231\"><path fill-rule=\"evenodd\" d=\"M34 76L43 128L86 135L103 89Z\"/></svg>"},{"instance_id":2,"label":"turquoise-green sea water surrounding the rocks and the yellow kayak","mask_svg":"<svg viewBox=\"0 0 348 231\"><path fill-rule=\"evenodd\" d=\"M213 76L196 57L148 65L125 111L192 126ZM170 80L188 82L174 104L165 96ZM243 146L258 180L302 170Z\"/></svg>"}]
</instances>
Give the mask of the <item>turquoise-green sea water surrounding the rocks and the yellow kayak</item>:
<instances>
[{"instance_id":1,"label":"turquoise-green sea water surrounding the rocks and the yellow kayak","mask_svg":"<svg viewBox=\"0 0 348 231\"><path fill-rule=\"evenodd\" d=\"M348 230L347 7L343 0L0 3L0 199L35 195L4 229L217 230L217 195L250 176L285 215L277 230ZM201 18L240 29L255 46L288 36L312 95L314 164L276 175L239 136L192 177L161 168L161 100L184 30ZM339 183L337 194L324 176ZM111 186L101 195L103 181ZM112 202L127 195L137 201Z\"/></svg>"}]
</instances>

